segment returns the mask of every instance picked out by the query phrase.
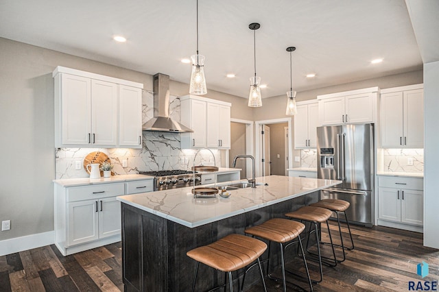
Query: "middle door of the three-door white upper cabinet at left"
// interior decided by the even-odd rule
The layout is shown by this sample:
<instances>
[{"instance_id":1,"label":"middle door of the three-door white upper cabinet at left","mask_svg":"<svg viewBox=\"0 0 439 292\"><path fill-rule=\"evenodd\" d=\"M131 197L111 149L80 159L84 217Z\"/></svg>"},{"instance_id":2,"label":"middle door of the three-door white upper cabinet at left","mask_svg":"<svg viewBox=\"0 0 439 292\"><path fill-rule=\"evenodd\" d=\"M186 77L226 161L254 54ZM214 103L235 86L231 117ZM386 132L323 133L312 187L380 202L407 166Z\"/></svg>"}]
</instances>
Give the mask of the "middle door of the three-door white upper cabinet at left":
<instances>
[{"instance_id":1,"label":"middle door of the three-door white upper cabinet at left","mask_svg":"<svg viewBox=\"0 0 439 292\"><path fill-rule=\"evenodd\" d=\"M92 145L115 146L117 144L117 117L117 84L92 80Z\"/></svg>"}]
</instances>

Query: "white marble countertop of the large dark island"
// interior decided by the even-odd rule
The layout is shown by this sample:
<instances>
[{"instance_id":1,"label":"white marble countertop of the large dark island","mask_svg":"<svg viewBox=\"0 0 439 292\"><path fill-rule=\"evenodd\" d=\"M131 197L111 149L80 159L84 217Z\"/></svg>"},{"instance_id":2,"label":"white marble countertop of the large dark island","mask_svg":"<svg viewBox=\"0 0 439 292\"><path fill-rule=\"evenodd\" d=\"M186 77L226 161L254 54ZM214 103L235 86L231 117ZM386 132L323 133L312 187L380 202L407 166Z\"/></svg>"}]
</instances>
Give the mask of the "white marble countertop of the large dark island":
<instances>
[{"instance_id":1,"label":"white marble countertop of the large dark island","mask_svg":"<svg viewBox=\"0 0 439 292\"><path fill-rule=\"evenodd\" d=\"M224 185L225 182L217 184ZM340 184L337 180L292 178L270 175L257 178L256 188L231 190L230 197L194 198L191 187L167 191L123 195L117 199L135 208L180 223L189 228L202 226L251 210L300 197L322 188ZM264 185L268 184L268 185ZM204 185L205 186L205 185Z\"/></svg>"}]
</instances>

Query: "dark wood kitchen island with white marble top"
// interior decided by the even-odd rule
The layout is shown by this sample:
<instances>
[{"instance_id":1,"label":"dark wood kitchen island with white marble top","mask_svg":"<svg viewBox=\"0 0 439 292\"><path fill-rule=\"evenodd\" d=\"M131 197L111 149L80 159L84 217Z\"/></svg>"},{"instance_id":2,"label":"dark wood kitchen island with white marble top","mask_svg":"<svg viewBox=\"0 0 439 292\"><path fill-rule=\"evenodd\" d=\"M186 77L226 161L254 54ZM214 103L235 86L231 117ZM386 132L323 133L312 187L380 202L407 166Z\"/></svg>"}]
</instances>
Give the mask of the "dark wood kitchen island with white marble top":
<instances>
[{"instance_id":1,"label":"dark wood kitchen island with white marble top","mask_svg":"<svg viewBox=\"0 0 439 292\"><path fill-rule=\"evenodd\" d=\"M117 197L122 203L125 290L190 291L195 263L186 252L227 234L244 234L249 226L317 202L318 191L340 181L271 175L257 178L257 184L230 191L228 198L193 198L192 188ZM271 254L274 267L275 250ZM241 280L236 273L233 277ZM254 280L258 280L256 269L247 276L246 286ZM202 267L196 290L223 282L224 273Z\"/></svg>"}]
</instances>

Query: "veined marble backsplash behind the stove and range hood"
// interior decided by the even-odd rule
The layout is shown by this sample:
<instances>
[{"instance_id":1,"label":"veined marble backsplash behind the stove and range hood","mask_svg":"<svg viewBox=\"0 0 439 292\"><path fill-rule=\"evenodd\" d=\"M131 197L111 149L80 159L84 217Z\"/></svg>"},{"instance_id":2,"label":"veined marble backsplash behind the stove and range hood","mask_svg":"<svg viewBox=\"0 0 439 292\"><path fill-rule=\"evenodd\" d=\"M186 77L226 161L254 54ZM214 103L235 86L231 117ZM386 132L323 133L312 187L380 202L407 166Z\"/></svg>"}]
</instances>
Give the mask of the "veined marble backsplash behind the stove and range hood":
<instances>
[{"instance_id":1,"label":"veined marble backsplash behind the stove and range hood","mask_svg":"<svg viewBox=\"0 0 439 292\"><path fill-rule=\"evenodd\" d=\"M154 117L154 97L150 91L142 96L143 123ZM172 119L180 121L180 97L169 97L169 114ZM198 150L181 149L180 134L166 132L143 132L142 149L104 149L104 148L58 148L55 149L56 179L87 178L88 173L82 165L84 158L93 151L108 155L115 165L116 175L133 174L139 171L156 171L169 169L190 169ZM221 151L211 150L219 166ZM122 160L128 160L128 167L122 167ZM80 161L81 169L75 169L75 162ZM196 156L195 165L213 165L214 158L209 150L202 150Z\"/></svg>"}]
</instances>

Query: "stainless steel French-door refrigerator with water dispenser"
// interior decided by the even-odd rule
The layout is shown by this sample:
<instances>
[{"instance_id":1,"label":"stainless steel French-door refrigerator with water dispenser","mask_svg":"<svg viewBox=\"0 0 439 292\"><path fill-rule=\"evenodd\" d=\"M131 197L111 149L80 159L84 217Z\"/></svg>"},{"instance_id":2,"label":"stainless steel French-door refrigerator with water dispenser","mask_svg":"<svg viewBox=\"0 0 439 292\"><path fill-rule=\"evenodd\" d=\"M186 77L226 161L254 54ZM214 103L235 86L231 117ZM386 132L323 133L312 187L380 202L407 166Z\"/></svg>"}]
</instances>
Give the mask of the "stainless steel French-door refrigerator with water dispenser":
<instances>
[{"instance_id":1,"label":"stainless steel French-door refrigerator with water dispenser","mask_svg":"<svg viewBox=\"0 0 439 292\"><path fill-rule=\"evenodd\" d=\"M374 125L317 127L318 178L342 180L337 188L320 191L321 199L351 203L346 215L351 223L371 227L374 204Z\"/></svg>"}]
</instances>

